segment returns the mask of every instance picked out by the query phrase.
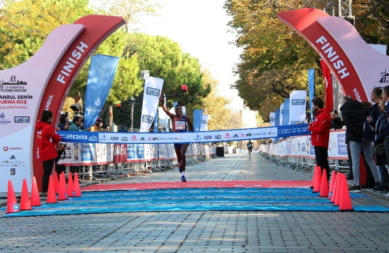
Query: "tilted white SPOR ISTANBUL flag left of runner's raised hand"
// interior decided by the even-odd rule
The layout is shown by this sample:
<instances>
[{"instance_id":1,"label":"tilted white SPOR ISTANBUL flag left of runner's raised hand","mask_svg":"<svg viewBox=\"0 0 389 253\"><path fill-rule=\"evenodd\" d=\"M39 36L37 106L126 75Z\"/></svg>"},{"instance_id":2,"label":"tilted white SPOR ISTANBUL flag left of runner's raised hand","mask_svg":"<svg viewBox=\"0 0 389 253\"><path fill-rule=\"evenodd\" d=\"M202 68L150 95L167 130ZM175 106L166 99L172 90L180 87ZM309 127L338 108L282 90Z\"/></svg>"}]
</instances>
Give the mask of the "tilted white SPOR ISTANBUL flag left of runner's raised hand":
<instances>
[{"instance_id":1,"label":"tilted white SPOR ISTANBUL flag left of runner's raised hand","mask_svg":"<svg viewBox=\"0 0 389 253\"><path fill-rule=\"evenodd\" d=\"M155 112L158 109L159 97L163 87L163 79L149 76L145 80L143 93L142 114L140 118L140 132L149 131Z\"/></svg>"}]
</instances>

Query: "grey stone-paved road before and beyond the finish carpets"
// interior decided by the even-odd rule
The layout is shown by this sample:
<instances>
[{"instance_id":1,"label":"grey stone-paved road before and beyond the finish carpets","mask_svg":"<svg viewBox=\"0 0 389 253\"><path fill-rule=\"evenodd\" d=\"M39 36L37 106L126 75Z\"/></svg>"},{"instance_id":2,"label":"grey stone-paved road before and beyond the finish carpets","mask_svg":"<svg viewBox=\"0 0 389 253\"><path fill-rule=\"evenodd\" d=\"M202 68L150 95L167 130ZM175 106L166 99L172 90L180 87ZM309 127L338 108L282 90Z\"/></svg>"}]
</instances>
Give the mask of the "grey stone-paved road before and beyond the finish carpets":
<instances>
[{"instance_id":1,"label":"grey stone-paved road before and beyond the finish carpets","mask_svg":"<svg viewBox=\"0 0 389 253\"><path fill-rule=\"evenodd\" d=\"M226 154L187 167L196 180L312 180L259 154ZM178 170L112 183L170 182ZM177 190L179 191L179 190ZM353 204L389 206L387 199ZM2 213L0 213L1 215ZM0 218L0 253L389 252L389 213L187 211Z\"/></svg>"}]
</instances>

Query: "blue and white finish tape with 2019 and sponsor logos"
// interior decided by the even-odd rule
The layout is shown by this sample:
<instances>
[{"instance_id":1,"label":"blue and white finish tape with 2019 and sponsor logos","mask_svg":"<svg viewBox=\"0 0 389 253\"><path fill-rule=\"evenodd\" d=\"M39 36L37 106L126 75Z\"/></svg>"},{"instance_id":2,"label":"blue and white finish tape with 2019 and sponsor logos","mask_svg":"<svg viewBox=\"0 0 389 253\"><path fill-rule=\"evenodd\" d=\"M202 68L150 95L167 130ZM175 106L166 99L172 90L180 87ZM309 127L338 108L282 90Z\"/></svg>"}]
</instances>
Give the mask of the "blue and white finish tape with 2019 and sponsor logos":
<instances>
[{"instance_id":1,"label":"blue and white finish tape with 2019 and sponsor logos","mask_svg":"<svg viewBox=\"0 0 389 253\"><path fill-rule=\"evenodd\" d=\"M62 142L115 144L199 143L256 140L307 135L309 134L307 126L308 124L301 124L204 132L158 133L59 131L58 134L61 136Z\"/></svg>"}]
</instances>

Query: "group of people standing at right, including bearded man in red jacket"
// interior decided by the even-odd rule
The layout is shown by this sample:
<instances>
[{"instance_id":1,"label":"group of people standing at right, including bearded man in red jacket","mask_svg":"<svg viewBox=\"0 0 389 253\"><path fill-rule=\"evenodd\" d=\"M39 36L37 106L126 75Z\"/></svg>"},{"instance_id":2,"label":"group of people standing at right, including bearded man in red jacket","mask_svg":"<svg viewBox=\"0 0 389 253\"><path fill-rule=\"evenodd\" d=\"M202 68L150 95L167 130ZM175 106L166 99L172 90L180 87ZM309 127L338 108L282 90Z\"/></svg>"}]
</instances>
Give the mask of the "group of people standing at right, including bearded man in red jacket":
<instances>
[{"instance_id":1,"label":"group of people standing at right, including bearded man in red jacket","mask_svg":"<svg viewBox=\"0 0 389 253\"><path fill-rule=\"evenodd\" d=\"M312 136L323 138L326 142L326 134L329 133L326 125L326 117L320 118L323 105L321 99L314 98L314 111L316 111L315 120L308 126ZM382 192L389 196L389 85L381 88L374 88L370 93L370 101L374 104L363 101L353 100L350 95L343 97L340 107L341 117L338 111L330 111L329 128L346 128L346 144L349 156L349 173L347 179L353 179L354 185L350 187L350 192L361 192L361 188L371 188L373 191ZM318 147L319 160L322 166L327 167L322 160L322 156L328 159L328 146L323 143L315 142L312 139L312 146L315 146L315 152ZM378 153L378 146L382 146ZM324 148L324 149L323 149ZM373 154L374 150L377 150ZM316 154L316 156L318 156ZM359 160L363 158L366 168L366 178L361 180L359 170ZM327 173L328 174L328 173ZM361 181L365 183L361 185Z\"/></svg>"}]
</instances>

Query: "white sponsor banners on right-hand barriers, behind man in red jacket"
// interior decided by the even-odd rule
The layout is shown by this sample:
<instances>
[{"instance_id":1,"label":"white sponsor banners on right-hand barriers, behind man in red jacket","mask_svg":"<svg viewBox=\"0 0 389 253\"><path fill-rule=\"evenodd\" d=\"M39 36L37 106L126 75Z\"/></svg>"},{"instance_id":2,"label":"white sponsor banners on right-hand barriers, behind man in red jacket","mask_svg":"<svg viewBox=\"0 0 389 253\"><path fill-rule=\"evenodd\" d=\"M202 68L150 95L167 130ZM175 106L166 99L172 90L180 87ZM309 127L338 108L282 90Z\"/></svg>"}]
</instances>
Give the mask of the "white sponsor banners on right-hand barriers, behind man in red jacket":
<instances>
[{"instance_id":1,"label":"white sponsor banners on right-hand barriers, behind man in red jacket","mask_svg":"<svg viewBox=\"0 0 389 253\"><path fill-rule=\"evenodd\" d=\"M329 132L329 159L349 159L347 144L345 143L345 129ZM290 137L278 143L260 145L260 150L277 156L301 156L315 158L314 147L311 145L310 135Z\"/></svg>"}]
</instances>

